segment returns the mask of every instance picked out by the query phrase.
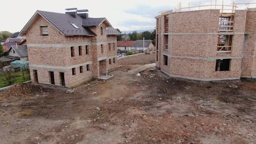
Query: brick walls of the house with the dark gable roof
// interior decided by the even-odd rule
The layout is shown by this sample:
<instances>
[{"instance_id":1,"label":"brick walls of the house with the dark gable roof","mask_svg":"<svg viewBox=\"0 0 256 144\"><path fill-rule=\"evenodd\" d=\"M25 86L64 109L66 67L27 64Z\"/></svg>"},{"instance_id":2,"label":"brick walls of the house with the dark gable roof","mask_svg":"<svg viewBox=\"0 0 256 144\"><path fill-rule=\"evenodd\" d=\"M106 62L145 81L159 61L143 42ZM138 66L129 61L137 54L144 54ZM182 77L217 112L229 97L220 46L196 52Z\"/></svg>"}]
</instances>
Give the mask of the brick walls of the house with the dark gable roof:
<instances>
[{"instance_id":1,"label":"brick walls of the house with the dark gable roof","mask_svg":"<svg viewBox=\"0 0 256 144\"><path fill-rule=\"evenodd\" d=\"M49 36L40 35L40 26L48 26ZM97 36L63 36L43 17L38 16L26 33L32 81L35 80L33 69L37 70L39 82L46 84L50 84L49 71L54 72L56 85L61 85L59 72L64 72L65 84L69 87L98 77L98 59L105 58L108 61L108 57L113 59L117 55L116 36L106 36L106 27L106 23L90 27ZM110 51L108 43L112 46ZM104 45L103 53L100 50L101 44ZM73 57L71 46L74 47ZM79 56L79 46L82 46L82 56ZM86 46L89 47L89 55L86 55ZM86 71L87 64L90 65L90 71ZM83 73L80 73L80 66L83 66ZM117 59L111 65L106 64L107 70L115 69L116 66ZM76 75L72 75L72 68L75 68Z\"/></svg>"}]
</instances>

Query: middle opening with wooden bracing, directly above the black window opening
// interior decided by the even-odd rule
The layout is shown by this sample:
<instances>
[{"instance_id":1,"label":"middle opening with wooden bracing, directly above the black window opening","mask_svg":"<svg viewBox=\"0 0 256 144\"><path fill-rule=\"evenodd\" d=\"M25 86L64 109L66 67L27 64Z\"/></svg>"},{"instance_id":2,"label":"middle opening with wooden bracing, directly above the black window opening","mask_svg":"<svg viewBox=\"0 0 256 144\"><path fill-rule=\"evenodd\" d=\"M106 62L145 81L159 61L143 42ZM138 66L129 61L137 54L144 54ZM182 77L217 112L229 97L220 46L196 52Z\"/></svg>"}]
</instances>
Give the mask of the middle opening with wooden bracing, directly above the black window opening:
<instances>
[{"instance_id":1,"label":"middle opening with wooden bracing, directly above the black window opening","mask_svg":"<svg viewBox=\"0 0 256 144\"><path fill-rule=\"evenodd\" d=\"M219 35L217 52L231 52L233 35Z\"/></svg>"}]
</instances>

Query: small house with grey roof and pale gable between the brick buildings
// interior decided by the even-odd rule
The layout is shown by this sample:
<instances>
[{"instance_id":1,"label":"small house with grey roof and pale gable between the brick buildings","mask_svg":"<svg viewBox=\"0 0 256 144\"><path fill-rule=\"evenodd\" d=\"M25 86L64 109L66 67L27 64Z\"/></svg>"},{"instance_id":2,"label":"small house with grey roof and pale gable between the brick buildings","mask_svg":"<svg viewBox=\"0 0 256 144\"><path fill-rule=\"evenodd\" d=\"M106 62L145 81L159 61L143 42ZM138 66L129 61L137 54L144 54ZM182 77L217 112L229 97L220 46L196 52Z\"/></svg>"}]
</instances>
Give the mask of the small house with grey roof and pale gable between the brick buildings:
<instances>
[{"instance_id":1,"label":"small house with grey roof and pale gable between the brick buildings","mask_svg":"<svg viewBox=\"0 0 256 144\"><path fill-rule=\"evenodd\" d=\"M154 51L154 44L152 40L136 40L131 46L131 51L133 52L149 52Z\"/></svg>"}]
</instances>

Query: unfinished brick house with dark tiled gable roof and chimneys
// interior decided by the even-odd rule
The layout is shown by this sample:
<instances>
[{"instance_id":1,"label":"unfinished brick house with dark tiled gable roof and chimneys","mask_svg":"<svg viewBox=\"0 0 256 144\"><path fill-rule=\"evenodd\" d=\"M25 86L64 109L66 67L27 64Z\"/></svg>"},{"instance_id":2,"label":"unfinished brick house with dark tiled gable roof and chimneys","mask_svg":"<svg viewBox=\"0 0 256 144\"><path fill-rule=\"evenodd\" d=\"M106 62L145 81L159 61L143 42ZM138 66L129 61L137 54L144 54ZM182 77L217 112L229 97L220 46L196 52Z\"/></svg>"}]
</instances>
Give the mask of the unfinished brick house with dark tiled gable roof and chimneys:
<instances>
[{"instance_id":1,"label":"unfinished brick house with dark tiled gable roof and chimneys","mask_svg":"<svg viewBox=\"0 0 256 144\"><path fill-rule=\"evenodd\" d=\"M117 67L117 35L106 18L88 10L37 10L21 30L33 82L72 87Z\"/></svg>"}]
</instances>

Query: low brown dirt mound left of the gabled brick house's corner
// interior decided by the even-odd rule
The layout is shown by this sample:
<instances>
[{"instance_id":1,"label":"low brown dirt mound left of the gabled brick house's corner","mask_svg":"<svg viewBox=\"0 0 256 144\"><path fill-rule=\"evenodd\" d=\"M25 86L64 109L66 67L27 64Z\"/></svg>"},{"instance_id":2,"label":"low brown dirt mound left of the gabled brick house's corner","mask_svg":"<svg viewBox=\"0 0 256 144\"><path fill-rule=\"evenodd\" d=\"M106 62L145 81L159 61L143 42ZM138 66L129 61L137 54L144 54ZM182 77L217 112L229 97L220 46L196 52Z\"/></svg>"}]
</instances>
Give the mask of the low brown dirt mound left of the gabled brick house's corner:
<instances>
[{"instance_id":1,"label":"low brown dirt mound left of the gabled brick house's corner","mask_svg":"<svg viewBox=\"0 0 256 144\"><path fill-rule=\"evenodd\" d=\"M36 93L42 93L45 88L31 83L16 83L12 87L0 92L0 96L28 97Z\"/></svg>"}]
</instances>

